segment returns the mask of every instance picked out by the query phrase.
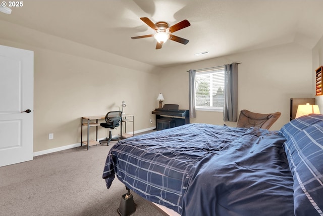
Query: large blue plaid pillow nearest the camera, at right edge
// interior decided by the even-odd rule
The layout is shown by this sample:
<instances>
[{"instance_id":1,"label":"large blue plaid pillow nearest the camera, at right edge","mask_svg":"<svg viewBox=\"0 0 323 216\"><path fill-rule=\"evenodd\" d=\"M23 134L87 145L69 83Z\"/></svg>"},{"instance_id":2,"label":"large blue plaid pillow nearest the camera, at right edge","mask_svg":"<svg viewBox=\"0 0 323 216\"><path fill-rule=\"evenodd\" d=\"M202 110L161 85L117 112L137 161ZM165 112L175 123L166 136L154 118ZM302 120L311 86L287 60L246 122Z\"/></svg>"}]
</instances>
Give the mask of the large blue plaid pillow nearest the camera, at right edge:
<instances>
[{"instance_id":1,"label":"large blue plaid pillow nearest the camera, at right edge","mask_svg":"<svg viewBox=\"0 0 323 216\"><path fill-rule=\"evenodd\" d=\"M323 120L306 125L307 120L293 123L297 133L287 131L290 126L284 129L289 136L284 149L294 180L294 213L323 215Z\"/></svg>"}]
</instances>

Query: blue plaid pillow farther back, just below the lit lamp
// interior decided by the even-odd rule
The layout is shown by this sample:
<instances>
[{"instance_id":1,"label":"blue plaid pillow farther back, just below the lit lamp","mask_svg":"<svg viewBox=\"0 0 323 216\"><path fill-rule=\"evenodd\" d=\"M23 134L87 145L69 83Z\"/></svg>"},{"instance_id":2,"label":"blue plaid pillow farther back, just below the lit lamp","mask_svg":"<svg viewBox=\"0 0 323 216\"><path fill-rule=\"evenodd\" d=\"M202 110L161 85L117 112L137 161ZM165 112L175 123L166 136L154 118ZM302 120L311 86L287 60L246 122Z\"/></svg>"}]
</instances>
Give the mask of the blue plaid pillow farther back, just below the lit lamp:
<instances>
[{"instance_id":1,"label":"blue plaid pillow farther back, just below the lit lamp","mask_svg":"<svg viewBox=\"0 0 323 216\"><path fill-rule=\"evenodd\" d=\"M309 114L299 118L295 118L285 124L279 131L280 135L286 139L296 135L298 132L307 128L308 126L323 121L323 115L320 114Z\"/></svg>"}]
</instances>

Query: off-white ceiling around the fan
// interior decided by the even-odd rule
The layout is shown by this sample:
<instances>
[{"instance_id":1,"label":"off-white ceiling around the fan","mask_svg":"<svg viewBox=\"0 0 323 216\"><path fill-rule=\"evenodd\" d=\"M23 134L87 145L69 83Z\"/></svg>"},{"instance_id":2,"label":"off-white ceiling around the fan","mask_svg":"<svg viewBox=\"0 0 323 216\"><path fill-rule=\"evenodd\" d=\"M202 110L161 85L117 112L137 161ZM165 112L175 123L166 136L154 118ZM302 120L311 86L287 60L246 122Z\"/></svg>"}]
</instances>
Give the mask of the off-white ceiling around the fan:
<instances>
[{"instance_id":1,"label":"off-white ceiling around the fan","mask_svg":"<svg viewBox=\"0 0 323 216\"><path fill-rule=\"evenodd\" d=\"M323 35L322 0L24 0L11 9L0 20L159 67L289 42L311 49ZM155 50L153 37L131 39L154 33L140 17L187 19L174 35L189 43Z\"/></svg>"}]
</instances>

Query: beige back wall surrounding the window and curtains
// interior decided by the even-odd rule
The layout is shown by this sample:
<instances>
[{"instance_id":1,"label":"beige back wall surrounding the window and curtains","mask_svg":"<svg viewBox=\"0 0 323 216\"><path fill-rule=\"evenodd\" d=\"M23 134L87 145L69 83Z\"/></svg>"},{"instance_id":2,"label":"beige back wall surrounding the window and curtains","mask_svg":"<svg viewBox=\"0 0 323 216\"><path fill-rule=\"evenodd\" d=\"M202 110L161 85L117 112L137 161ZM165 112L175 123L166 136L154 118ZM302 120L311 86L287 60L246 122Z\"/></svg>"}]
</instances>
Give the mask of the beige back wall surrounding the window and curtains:
<instances>
[{"instance_id":1,"label":"beige back wall surrounding the window and curtains","mask_svg":"<svg viewBox=\"0 0 323 216\"><path fill-rule=\"evenodd\" d=\"M160 79L164 103L178 103L180 108L188 109L186 71L232 62L242 62L238 66L238 112L241 109L281 112L282 116L271 129L280 129L289 121L290 98L313 97L311 50L287 44L164 69ZM236 122L224 122L222 112L210 111L197 111L191 122L236 125Z\"/></svg>"}]
</instances>

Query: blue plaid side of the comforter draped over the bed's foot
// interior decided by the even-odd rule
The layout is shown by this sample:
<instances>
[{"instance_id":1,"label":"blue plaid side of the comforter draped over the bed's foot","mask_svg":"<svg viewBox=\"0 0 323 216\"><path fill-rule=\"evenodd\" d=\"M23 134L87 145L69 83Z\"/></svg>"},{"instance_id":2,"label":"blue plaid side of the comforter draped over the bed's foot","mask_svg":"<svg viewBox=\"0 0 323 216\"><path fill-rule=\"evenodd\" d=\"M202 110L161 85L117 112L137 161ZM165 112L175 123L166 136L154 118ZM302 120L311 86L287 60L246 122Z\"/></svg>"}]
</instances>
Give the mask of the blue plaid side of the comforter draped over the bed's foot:
<instances>
[{"instance_id":1,"label":"blue plaid side of the comforter draped over the bed's foot","mask_svg":"<svg viewBox=\"0 0 323 216\"><path fill-rule=\"evenodd\" d=\"M238 139L246 128L186 124L131 137L107 155L103 179L110 188L115 175L140 196L182 212L182 198L192 167Z\"/></svg>"}]
</instances>

